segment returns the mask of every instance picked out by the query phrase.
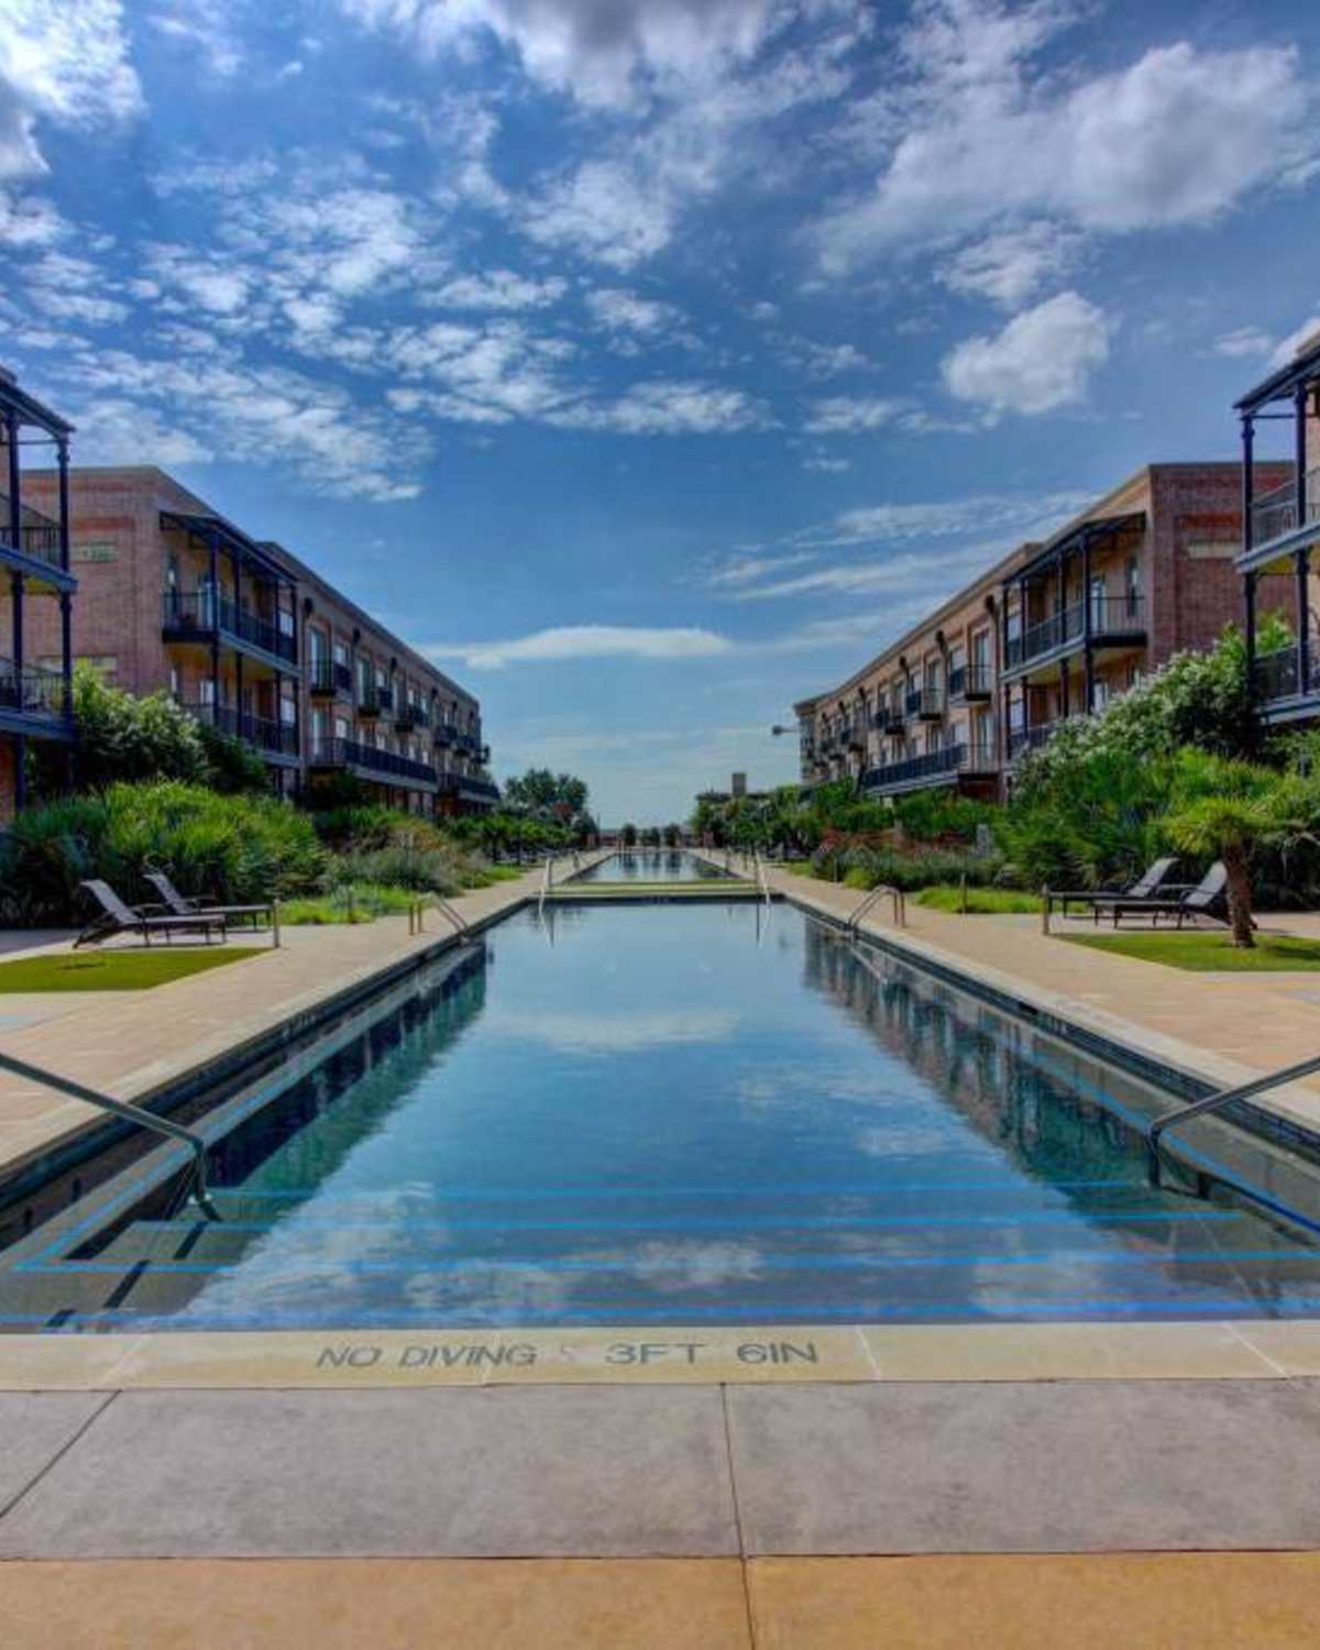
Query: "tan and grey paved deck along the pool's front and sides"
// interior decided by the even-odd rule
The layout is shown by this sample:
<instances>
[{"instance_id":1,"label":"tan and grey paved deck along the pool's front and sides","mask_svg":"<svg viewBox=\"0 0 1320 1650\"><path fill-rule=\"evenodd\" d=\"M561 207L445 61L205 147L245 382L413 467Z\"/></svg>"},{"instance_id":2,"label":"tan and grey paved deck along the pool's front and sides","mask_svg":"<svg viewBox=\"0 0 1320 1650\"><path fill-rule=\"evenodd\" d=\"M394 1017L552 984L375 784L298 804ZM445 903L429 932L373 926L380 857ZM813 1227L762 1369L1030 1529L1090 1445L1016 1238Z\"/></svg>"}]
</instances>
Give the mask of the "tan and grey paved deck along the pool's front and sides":
<instances>
[{"instance_id":1,"label":"tan and grey paved deck along the pool's front and sides","mask_svg":"<svg viewBox=\"0 0 1320 1650\"><path fill-rule=\"evenodd\" d=\"M835 917L860 899L772 876ZM495 917L538 879L460 909ZM868 929L1213 1081L1320 1048L1317 975L1185 975L1031 917L914 904L904 934ZM205 980L35 1005L5 1048L150 1092L436 934L381 919L287 939ZM0 1089L0 1153L78 1124L36 1101ZM1280 1107L1320 1119L1320 1089ZM455 1356L454 1333L0 1338L5 1643L1313 1642L1320 1323L467 1340L521 1351Z\"/></svg>"}]
</instances>

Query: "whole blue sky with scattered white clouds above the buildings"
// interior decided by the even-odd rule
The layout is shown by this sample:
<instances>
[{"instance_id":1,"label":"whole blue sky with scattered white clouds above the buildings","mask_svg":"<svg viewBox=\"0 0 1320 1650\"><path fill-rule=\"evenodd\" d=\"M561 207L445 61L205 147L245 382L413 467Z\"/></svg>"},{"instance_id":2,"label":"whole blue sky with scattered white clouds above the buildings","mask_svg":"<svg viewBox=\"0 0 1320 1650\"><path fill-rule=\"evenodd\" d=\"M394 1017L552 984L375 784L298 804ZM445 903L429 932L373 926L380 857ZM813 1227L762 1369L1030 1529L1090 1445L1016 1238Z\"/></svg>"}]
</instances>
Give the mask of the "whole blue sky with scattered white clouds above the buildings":
<instances>
[{"instance_id":1,"label":"whole blue sky with scattered white clouds above the buildings","mask_svg":"<svg viewBox=\"0 0 1320 1650\"><path fill-rule=\"evenodd\" d=\"M1320 325L1312 0L0 0L0 361L683 817Z\"/></svg>"}]
</instances>

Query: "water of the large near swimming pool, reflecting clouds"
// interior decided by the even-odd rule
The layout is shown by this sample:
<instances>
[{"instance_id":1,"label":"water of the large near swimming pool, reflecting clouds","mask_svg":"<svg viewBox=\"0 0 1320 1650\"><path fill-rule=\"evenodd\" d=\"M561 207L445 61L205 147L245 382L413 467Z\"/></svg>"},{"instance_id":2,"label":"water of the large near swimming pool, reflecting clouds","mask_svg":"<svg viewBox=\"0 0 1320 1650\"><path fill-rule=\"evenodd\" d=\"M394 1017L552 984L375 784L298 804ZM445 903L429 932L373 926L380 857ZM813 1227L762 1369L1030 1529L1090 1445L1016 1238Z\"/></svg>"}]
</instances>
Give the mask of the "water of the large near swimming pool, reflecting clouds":
<instances>
[{"instance_id":1,"label":"water of the large near swimming pool, reflecting clouds","mask_svg":"<svg viewBox=\"0 0 1320 1650\"><path fill-rule=\"evenodd\" d=\"M262 1082L223 1223L112 1181L0 1254L0 1327L1320 1308L1305 1229L1148 1183L1167 1094L792 906L521 912Z\"/></svg>"}]
</instances>

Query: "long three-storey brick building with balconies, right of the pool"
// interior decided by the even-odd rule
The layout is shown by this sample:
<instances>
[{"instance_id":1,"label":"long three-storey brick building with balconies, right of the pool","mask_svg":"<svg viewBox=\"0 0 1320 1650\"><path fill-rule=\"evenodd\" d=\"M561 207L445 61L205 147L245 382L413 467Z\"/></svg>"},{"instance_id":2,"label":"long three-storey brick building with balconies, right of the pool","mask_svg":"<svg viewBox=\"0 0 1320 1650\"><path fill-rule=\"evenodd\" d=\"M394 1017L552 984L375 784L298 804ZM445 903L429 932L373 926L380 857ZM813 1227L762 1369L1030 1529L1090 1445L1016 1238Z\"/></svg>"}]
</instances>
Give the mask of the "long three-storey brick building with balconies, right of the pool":
<instances>
[{"instance_id":1,"label":"long three-storey brick building with balconies, right of the pool","mask_svg":"<svg viewBox=\"0 0 1320 1650\"><path fill-rule=\"evenodd\" d=\"M1272 488L1287 465L1257 465ZM1018 757L1242 615L1238 464L1138 470L1023 544L840 688L800 701L804 784L1006 789ZM1279 581L1272 581L1279 594Z\"/></svg>"}]
</instances>

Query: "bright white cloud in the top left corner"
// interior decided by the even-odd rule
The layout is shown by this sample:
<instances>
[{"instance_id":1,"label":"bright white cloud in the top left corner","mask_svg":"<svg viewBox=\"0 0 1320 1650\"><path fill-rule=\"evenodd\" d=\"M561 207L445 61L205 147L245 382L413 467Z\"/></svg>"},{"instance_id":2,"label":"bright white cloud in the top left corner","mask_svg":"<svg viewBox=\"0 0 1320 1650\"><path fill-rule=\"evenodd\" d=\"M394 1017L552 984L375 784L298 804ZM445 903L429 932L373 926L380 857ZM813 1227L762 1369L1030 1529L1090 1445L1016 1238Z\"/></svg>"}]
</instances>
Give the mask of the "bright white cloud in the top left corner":
<instances>
[{"instance_id":1,"label":"bright white cloud in the top left corner","mask_svg":"<svg viewBox=\"0 0 1320 1650\"><path fill-rule=\"evenodd\" d=\"M0 180L46 170L38 120L92 130L140 112L119 0L5 0Z\"/></svg>"}]
</instances>

